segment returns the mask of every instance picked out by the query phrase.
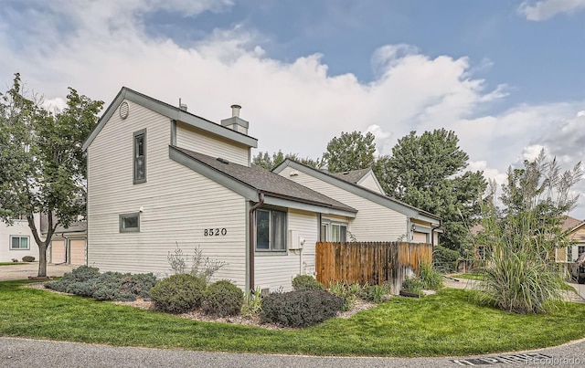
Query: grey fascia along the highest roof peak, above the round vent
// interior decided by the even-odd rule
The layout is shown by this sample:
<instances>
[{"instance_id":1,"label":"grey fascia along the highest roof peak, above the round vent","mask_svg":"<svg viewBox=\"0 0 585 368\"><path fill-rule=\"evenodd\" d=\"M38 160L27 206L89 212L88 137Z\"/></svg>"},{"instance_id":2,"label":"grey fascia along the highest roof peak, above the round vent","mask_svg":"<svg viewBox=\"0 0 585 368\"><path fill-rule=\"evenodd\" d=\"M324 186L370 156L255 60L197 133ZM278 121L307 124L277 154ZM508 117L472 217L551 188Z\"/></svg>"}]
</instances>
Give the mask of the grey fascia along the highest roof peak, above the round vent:
<instances>
[{"instance_id":1,"label":"grey fascia along the highest roof peak, above the round vent","mask_svg":"<svg viewBox=\"0 0 585 368\"><path fill-rule=\"evenodd\" d=\"M122 87L110 106L108 106L103 115L101 115L98 123L91 130L89 137L85 140L85 142L83 142L84 151L90 147L91 142L93 142L95 137L97 137L106 122L112 118L112 115L118 109L123 100L133 101L134 103L144 106L147 109L153 110L161 115L168 117L170 120L183 121L188 125L224 137L230 141L238 142L248 147L258 147L258 140L256 138L250 137L249 135L243 134L239 131L233 131L228 127L224 127L213 121L208 121L207 119L201 118L185 110L181 110L176 106L169 105L168 103L161 100L153 99L152 97L146 96L143 93L137 92L133 89Z\"/></svg>"}]
</instances>

